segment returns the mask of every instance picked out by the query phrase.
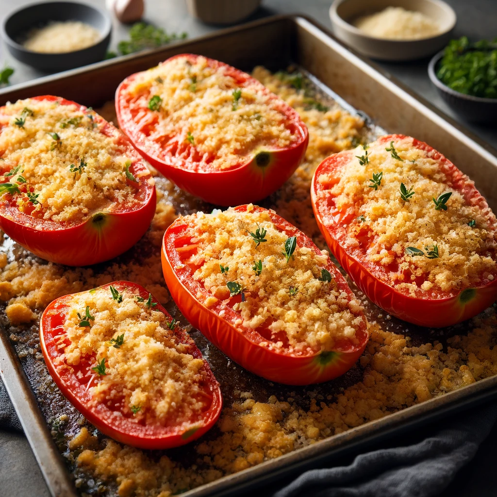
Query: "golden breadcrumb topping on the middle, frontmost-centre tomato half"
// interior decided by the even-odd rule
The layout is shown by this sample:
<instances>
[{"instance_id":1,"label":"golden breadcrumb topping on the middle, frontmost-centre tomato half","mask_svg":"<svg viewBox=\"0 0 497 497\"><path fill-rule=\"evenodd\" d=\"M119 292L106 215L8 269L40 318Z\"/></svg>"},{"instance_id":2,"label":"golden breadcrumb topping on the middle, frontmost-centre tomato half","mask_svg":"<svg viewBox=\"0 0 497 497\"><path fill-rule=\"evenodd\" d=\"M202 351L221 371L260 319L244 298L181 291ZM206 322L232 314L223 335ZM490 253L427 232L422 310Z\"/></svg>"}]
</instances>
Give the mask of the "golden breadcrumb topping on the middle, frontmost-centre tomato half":
<instances>
[{"instance_id":1,"label":"golden breadcrumb topping on the middle, frontmost-centre tomato half","mask_svg":"<svg viewBox=\"0 0 497 497\"><path fill-rule=\"evenodd\" d=\"M197 268L194 279L214 300L228 301L229 284L239 284L243 297L233 309L241 314L241 326L263 336L267 329L277 346L288 342L295 353L309 347L332 350L338 338L354 340L355 329L363 323L361 306L350 302L331 276L330 281L320 280L329 264L327 252L319 254L296 242L287 260L289 235L267 212L253 211L251 205L247 212L230 208L183 219L188 225L185 236L196 246L187 259ZM257 230L259 238L254 239Z\"/></svg>"}]
</instances>

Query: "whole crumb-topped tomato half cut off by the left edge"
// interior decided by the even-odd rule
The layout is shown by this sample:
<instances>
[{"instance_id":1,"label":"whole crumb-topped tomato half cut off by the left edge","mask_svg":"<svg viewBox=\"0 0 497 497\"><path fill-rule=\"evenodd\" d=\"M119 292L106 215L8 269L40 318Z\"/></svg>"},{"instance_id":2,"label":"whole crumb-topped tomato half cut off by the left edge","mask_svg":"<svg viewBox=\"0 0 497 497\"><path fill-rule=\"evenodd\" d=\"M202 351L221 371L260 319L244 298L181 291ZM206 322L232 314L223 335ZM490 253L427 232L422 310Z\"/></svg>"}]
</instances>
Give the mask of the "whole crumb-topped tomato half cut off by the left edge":
<instances>
[{"instance_id":1,"label":"whole crumb-topped tomato half cut off by the left edge","mask_svg":"<svg viewBox=\"0 0 497 497\"><path fill-rule=\"evenodd\" d=\"M128 139L93 110L45 95L0 107L0 228L52 262L95 264L147 231L156 191Z\"/></svg>"}]
</instances>

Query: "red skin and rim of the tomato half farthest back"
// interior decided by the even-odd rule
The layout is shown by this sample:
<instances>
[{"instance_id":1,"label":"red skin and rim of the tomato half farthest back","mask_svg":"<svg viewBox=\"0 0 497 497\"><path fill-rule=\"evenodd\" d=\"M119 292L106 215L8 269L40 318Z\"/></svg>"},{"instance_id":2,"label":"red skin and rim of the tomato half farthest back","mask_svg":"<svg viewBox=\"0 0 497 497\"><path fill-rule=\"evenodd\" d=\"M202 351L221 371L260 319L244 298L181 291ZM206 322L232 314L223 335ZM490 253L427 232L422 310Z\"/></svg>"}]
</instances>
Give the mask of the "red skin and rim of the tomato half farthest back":
<instances>
[{"instance_id":1,"label":"red skin and rim of the tomato half farthest back","mask_svg":"<svg viewBox=\"0 0 497 497\"><path fill-rule=\"evenodd\" d=\"M187 57L188 60L194 63L199 56L180 54L167 59L165 62L178 57ZM138 152L152 166L162 172L179 188L192 195L200 197L206 202L222 206L261 200L276 191L293 174L304 159L309 143L307 127L294 109L276 95L270 93L261 83L251 78L248 74L213 59L207 59L207 61L211 67L225 68L226 73L235 78L239 84L256 84L260 87L261 92L277 99L279 101L279 110L289 118L292 126L295 127L295 132L299 135L299 139L285 148L261 147L254 151L248 161L228 170L202 171L198 170L197 167L195 167L197 170L188 170L188 168L184 167L185 161L182 158L161 150L160 145L149 140L133 121L129 108L127 88L140 73L126 78L116 90L116 111L119 127L128 135ZM148 109L141 110L152 112ZM256 153L261 152L262 155L257 157ZM258 165L258 163L263 165Z\"/></svg>"}]
</instances>

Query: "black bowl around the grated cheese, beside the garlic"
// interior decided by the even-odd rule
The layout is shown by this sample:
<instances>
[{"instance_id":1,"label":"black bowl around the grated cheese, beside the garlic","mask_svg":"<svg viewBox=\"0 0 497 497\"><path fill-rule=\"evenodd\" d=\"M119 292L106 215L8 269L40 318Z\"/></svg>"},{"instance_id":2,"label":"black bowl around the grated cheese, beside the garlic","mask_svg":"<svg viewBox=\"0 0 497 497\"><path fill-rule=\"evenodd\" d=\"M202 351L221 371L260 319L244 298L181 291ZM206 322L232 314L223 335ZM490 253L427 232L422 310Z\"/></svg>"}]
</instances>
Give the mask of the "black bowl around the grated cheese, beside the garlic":
<instances>
[{"instance_id":1,"label":"black bowl around the grated cheese, beside the garlic","mask_svg":"<svg viewBox=\"0 0 497 497\"><path fill-rule=\"evenodd\" d=\"M82 21L100 33L100 41L74 52L39 53L27 50L20 43L22 36L50 21ZM2 23L1 36L8 51L19 61L44 71L65 71L104 59L110 42L112 23L104 10L71 1L33 3L12 12Z\"/></svg>"}]
</instances>

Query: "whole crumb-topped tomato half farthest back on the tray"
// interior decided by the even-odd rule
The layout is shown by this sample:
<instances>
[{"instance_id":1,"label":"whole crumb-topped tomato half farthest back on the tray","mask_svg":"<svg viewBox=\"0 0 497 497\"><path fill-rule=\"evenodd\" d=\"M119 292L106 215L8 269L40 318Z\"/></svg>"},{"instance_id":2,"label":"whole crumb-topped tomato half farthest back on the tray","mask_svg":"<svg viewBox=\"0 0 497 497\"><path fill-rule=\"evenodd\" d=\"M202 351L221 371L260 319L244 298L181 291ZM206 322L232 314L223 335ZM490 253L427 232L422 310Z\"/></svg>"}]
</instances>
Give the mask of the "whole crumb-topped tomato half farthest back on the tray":
<instances>
[{"instance_id":1,"label":"whole crumb-topped tomato half farthest back on the tray","mask_svg":"<svg viewBox=\"0 0 497 497\"><path fill-rule=\"evenodd\" d=\"M180 188L217 205L260 200L304 158L305 124L248 74L182 54L126 78L120 128Z\"/></svg>"}]
</instances>

